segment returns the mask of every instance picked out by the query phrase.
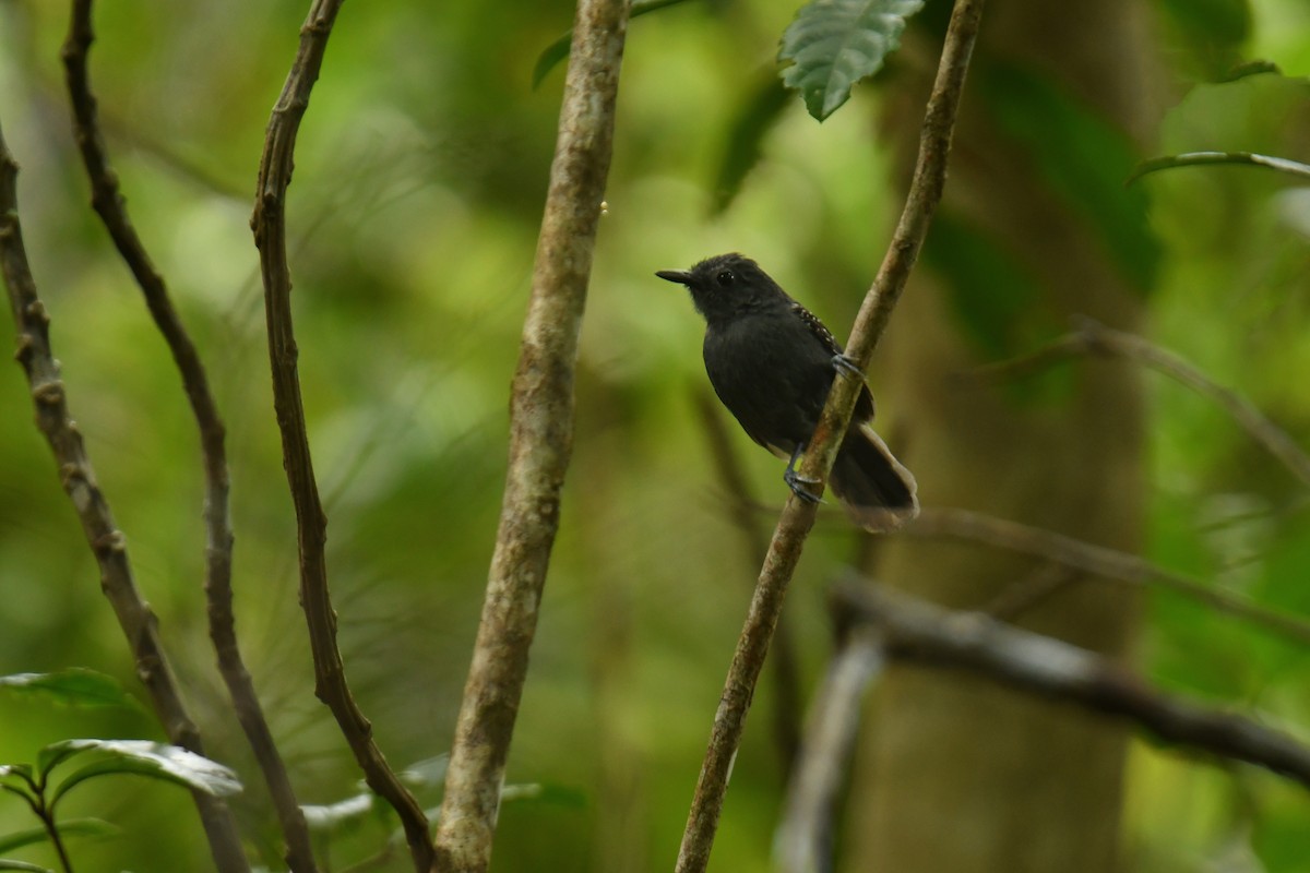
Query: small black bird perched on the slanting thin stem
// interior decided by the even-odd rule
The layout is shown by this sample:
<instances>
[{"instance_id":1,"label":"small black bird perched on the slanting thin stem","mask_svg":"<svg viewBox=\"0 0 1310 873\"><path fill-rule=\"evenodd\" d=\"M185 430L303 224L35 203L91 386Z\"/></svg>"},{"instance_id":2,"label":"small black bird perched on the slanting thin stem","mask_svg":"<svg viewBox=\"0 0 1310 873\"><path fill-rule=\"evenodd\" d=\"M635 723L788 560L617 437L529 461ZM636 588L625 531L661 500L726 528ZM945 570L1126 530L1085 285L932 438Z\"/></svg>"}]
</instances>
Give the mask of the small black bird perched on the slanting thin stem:
<instances>
[{"instance_id":1,"label":"small black bird perched on the slanting thin stem","mask_svg":"<svg viewBox=\"0 0 1310 873\"><path fill-rule=\"evenodd\" d=\"M796 472L837 370L863 380L823 322L787 296L760 266L739 254L707 258L690 270L660 270L686 285L705 317L705 370L723 406L747 435L790 458L783 480L803 500L814 484ZM914 476L874 433L874 395L861 389L855 414L832 467L832 490L857 525L893 530L918 514Z\"/></svg>"}]
</instances>

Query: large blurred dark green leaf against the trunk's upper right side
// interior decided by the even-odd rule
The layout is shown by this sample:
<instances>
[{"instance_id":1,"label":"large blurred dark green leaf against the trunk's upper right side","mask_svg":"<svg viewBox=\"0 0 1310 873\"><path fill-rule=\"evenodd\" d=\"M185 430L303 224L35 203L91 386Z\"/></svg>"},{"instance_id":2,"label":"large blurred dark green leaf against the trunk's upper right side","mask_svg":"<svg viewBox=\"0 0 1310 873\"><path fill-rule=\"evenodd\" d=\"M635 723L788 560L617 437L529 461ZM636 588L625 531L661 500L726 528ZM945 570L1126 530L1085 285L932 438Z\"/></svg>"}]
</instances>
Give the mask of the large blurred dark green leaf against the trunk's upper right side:
<instances>
[{"instance_id":1,"label":"large blurred dark green leaf against the trunk's upper right side","mask_svg":"<svg viewBox=\"0 0 1310 873\"><path fill-rule=\"evenodd\" d=\"M1146 191L1124 186L1138 161L1128 135L1048 76L1000 64L980 72L1001 130L1027 149L1034 171L1099 237L1128 284L1150 292L1161 245L1148 220Z\"/></svg>"}]
</instances>

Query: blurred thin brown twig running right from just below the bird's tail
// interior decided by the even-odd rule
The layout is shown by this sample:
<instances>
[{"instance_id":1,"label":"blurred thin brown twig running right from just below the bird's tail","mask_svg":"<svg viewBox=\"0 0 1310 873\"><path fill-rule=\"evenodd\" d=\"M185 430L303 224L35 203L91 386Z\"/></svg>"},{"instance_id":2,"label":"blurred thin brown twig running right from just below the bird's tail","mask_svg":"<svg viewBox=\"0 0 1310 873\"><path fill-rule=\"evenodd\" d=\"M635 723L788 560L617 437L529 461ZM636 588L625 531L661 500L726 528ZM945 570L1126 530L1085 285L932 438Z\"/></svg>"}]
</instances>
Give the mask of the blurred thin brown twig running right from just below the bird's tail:
<instances>
[{"instance_id":1,"label":"blurred thin brown twig running right from just below the bird's tail","mask_svg":"<svg viewBox=\"0 0 1310 873\"><path fill-rule=\"evenodd\" d=\"M1239 594L1210 588L1182 573L1157 567L1136 555L1104 546L1094 546L1051 530L1020 525L1017 521L968 509L933 508L921 512L914 524L903 529L900 535L971 539L1043 558L1093 576L1133 585L1167 588L1205 603L1216 611L1246 619L1301 645L1310 645L1310 623L1303 619L1252 603Z\"/></svg>"}]
</instances>

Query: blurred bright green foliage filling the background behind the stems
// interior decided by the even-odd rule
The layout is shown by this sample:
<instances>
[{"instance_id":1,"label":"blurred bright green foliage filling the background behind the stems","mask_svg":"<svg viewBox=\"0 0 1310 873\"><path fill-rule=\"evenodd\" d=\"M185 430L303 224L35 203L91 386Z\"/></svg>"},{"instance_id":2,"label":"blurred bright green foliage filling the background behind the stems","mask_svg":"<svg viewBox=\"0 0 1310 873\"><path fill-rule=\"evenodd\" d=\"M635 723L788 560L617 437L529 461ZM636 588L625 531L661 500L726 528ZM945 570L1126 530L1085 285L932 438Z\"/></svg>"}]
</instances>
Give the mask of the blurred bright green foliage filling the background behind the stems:
<instances>
[{"instance_id":1,"label":"blurred bright green foliage filling the background behind the stems","mask_svg":"<svg viewBox=\"0 0 1310 873\"><path fill-rule=\"evenodd\" d=\"M943 5L931 3L925 14ZM1158 5L1167 14L1182 4ZM351 797L359 774L312 694L246 224L263 126L305 7L98 4L92 77L131 215L200 346L229 428L245 654L303 802L326 805ZM872 89L857 89L821 127L798 97L761 96L795 8L681 4L630 31L563 527L507 774L584 804L507 805L494 869L664 869L676 855L756 567L727 520L696 416L694 393L705 390L698 318L651 272L744 251L842 336L896 207ZM1289 76L1310 71L1310 18L1297 0L1254 3L1250 24L1242 18L1248 34L1221 26L1238 5L1205 8L1213 14L1196 24L1225 52L1272 59ZM0 3L0 123L24 168L29 251L69 403L127 534L138 582L160 615L211 757L248 787L233 798L246 832L276 865L272 817L208 649L198 440L166 351L86 208L58 65L64 14L63 4L45 0ZM533 90L532 72L571 14L562 0L347 4L300 135L288 213L293 302L330 518L330 575L350 679L398 766L449 746L495 535L507 387L562 81L557 68ZM1166 27L1162 47L1186 38ZM1178 81L1161 153L1310 158L1303 81L1265 75L1191 85L1189 64L1171 65ZM1010 93L1020 101L1006 115L1015 124L1049 107L1045 85L1030 84ZM738 173L744 183L710 217L726 203L717 179L740 118L761 139L732 147L748 156ZM1052 145L1079 147L1093 175L1070 179L1039 161L1053 186L1110 185L1123 171L1123 154L1103 140L1093 148L1086 123L1058 132ZM1026 139L1040 137L1027 131ZM1142 205L1121 220L1096 212L1096 202L1086 205L1091 232L1123 253L1125 270L1144 281L1157 275L1153 338L1310 445L1305 190L1234 168L1174 170L1137 188L1149 213ZM1056 186L1055 194L1081 190ZM1148 220L1158 253L1133 242ZM985 246L960 245L980 268L1006 263ZM1045 325L1024 321L1022 305L1000 302L1018 323L998 312L980 318L1005 322L996 330L1007 351L1045 334ZM1303 488L1216 408L1145 378L1149 556L1310 613ZM876 387L876 363L872 381ZM758 499L781 505L777 463L734 437ZM94 563L30 425L17 366L0 370L0 674L92 666L134 687ZM770 525L772 513L760 521ZM824 584L854 552L840 513L825 512L789 602L807 688L829 649ZM1151 597L1149 615L1148 675L1280 724L1310 724L1305 653L1169 594ZM782 784L761 715L770 696L765 686L736 762L717 869L766 865ZM0 760L75 736L160 732L131 709L0 700ZM1134 869L1210 869L1229 852L1254 853L1268 870L1305 869L1310 800L1267 775L1225 774L1141 745L1129 784ZM421 800L435 806L438 794ZM68 805L69 815L123 827L123 836L79 857L81 870L204 864L200 828L176 789L92 783ZM0 804L0 834L22 827L24 814ZM360 826L326 851L345 866L379 851L389 827ZM38 849L30 857L51 863ZM403 852L385 869L406 869Z\"/></svg>"}]
</instances>

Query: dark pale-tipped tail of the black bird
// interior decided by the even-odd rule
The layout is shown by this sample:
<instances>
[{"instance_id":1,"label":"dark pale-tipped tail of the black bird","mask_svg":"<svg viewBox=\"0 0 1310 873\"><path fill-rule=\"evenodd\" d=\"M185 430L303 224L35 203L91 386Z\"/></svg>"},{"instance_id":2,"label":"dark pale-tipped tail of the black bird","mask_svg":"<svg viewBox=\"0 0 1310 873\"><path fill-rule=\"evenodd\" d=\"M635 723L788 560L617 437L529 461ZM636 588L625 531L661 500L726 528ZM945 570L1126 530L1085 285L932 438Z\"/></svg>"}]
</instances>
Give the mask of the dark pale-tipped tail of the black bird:
<instances>
[{"instance_id":1,"label":"dark pale-tipped tail of the black bird","mask_svg":"<svg viewBox=\"0 0 1310 873\"><path fill-rule=\"evenodd\" d=\"M846 431L832 465L832 490L865 530L896 530L918 514L914 476L867 423Z\"/></svg>"}]
</instances>

